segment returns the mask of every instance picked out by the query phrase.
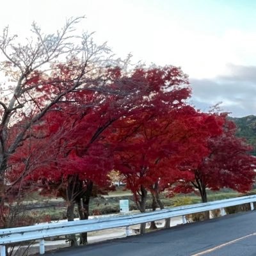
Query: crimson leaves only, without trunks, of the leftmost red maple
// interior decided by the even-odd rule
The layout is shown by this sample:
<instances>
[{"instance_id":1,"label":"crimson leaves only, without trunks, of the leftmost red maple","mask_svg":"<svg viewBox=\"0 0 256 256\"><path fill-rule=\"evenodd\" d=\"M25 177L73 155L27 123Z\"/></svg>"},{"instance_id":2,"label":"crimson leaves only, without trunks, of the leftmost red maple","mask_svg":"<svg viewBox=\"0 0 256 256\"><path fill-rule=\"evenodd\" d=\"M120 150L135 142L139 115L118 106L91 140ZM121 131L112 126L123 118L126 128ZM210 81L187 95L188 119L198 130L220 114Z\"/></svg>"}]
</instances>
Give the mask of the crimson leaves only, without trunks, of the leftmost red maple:
<instances>
[{"instance_id":1,"label":"crimson leaves only, without trunks, of the leftmost red maple","mask_svg":"<svg viewBox=\"0 0 256 256\"><path fill-rule=\"evenodd\" d=\"M73 76L73 66L76 63L61 65L59 76L65 76L68 81L68 77ZM38 88L38 92L48 97L54 95L54 90L60 93L67 89L67 83L56 84L57 75L54 74L54 81L49 80ZM98 186L106 186L107 174L113 169L111 148L115 132L109 129L111 125L116 122L118 126L129 116L146 120L155 107L163 114L169 108L179 109L190 94L189 88L178 87L188 81L175 67L138 69L129 76L123 76L120 68L109 68L106 77L109 82L105 87L99 86L104 89L103 93L90 90L90 86L88 90L69 93L33 126L30 139L10 158L12 171L8 178L11 182L22 176L29 184L39 183L47 191L67 186L70 177L77 175L79 180L92 180ZM93 81L92 86L99 85L97 83L103 82ZM109 136L111 140L106 140Z\"/></svg>"}]
</instances>

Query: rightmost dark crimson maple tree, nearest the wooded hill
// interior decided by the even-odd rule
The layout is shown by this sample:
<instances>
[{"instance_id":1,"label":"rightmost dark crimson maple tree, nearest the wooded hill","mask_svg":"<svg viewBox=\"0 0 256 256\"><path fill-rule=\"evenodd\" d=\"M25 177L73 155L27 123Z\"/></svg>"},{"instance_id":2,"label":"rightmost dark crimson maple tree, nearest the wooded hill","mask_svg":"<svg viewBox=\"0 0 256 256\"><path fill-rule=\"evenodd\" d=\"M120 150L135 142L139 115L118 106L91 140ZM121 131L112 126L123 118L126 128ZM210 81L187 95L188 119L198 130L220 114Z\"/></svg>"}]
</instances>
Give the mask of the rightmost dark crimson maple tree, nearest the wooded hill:
<instances>
[{"instance_id":1,"label":"rightmost dark crimson maple tree, nearest the wooded hill","mask_svg":"<svg viewBox=\"0 0 256 256\"><path fill-rule=\"evenodd\" d=\"M198 189L202 200L206 202L206 188L231 188L241 193L252 188L256 175L256 159L250 155L252 147L243 139L236 137L236 126L226 115L212 117L223 120L223 132L207 138L208 154L201 158L198 166L189 163L180 166L193 176L189 179L177 178L173 193L189 193L193 189Z\"/></svg>"}]
</instances>

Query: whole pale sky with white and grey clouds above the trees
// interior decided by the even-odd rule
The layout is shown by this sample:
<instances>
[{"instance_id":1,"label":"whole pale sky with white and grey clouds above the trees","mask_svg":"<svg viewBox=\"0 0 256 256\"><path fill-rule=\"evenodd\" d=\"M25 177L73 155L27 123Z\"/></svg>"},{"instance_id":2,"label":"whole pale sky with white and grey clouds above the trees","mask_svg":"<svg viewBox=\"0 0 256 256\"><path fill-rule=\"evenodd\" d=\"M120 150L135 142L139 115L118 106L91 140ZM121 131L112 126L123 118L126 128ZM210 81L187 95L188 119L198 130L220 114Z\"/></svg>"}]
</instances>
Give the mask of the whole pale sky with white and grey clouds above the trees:
<instances>
[{"instance_id":1,"label":"whole pale sky with white and grey clouds above the trees","mask_svg":"<svg viewBox=\"0 0 256 256\"><path fill-rule=\"evenodd\" d=\"M1 0L0 30L29 35L35 21L53 33L85 15L78 31L95 31L116 56L176 65L189 75L191 104L220 104L231 116L256 115L255 0Z\"/></svg>"}]
</instances>

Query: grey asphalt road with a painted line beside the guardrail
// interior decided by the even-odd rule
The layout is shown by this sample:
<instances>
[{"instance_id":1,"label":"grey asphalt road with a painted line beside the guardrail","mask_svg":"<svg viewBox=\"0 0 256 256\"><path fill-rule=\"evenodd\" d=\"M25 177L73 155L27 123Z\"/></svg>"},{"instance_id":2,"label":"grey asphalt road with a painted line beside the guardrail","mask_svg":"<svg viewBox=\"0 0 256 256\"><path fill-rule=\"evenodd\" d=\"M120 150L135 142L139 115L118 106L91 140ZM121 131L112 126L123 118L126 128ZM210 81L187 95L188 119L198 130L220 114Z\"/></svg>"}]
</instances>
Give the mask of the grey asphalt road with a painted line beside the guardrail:
<instances>
[{"instance_id":1,"label":"grey asphalt road with a painted line beside the guardrail","mask_svg":"<svg viewBox=\"0 0 256 256\"><path fill-rule=\"evenodd\" d=\"M256 256L256 211L189 223L143 236L65 249L56 256Z\"/></svg>"}]
</instances>

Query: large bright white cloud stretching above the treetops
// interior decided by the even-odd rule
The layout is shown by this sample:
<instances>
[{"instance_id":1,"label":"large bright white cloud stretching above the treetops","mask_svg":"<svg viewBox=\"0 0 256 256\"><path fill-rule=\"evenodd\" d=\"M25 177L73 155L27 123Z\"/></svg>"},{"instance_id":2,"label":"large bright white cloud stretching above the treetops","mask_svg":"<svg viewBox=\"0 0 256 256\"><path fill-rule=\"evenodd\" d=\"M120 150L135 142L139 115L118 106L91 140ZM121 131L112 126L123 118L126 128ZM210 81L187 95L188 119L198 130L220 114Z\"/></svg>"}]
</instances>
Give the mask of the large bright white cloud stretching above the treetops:
<instances>
[{"instance_id":1,"label":"large bright white cloud stretching above the treetops","mask_svg":"<svg viewBox=\"0 0 256 256\"><path fill-rule=\"evenodd\" d=\"M175 15L175 5L168 15L154 1L141 3L10 0L2 5L0 24L10 24L15 33L28 35L33 20L46 31L53 32L63 25L67 17L85 14L87 19L79 24L79 30L97 31L97 40L108 40L118 55L126 56L132 52L135 60L178 65L190 77L207 78L225 74L227 63L255 64L256 33L238 29L211 33L203 30L204 24L201 28L193 28L189 24L193 24L193 20Z\"/></svg>"}]
</instances>

